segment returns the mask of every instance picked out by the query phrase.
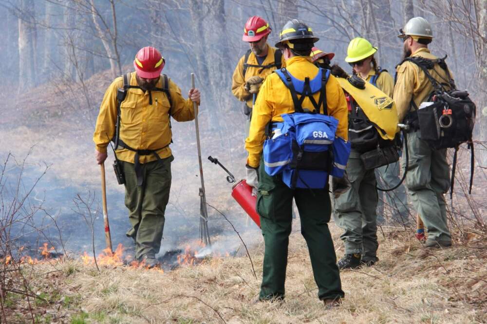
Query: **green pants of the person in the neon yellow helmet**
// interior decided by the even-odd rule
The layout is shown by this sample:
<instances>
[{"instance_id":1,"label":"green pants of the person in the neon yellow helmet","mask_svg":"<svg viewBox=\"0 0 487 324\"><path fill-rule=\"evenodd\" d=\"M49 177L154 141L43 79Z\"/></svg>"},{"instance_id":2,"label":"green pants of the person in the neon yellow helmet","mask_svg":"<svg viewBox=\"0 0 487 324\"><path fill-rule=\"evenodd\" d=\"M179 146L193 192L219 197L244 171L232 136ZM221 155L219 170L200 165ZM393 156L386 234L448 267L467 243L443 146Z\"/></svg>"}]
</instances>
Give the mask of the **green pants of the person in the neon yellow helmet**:
<instances>
[{"instance_id":1,"label":"green pants of the person in the neon yellow helmet","mask_svg":"<svg viewBox=\"0 0 487 324\"><path fill-rule=\"evenodd\" d=\"M365 170L360 153L352 150L346 169L352 188L335 199L337 225L345 254L360 254L362 260L377 260L377 189L375 171Z\"/></svg>"}]
</instances>

